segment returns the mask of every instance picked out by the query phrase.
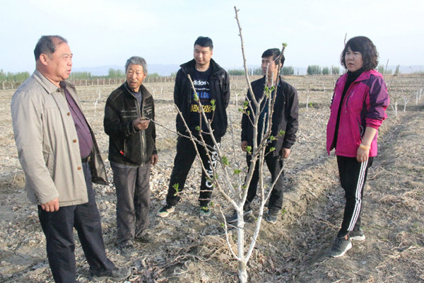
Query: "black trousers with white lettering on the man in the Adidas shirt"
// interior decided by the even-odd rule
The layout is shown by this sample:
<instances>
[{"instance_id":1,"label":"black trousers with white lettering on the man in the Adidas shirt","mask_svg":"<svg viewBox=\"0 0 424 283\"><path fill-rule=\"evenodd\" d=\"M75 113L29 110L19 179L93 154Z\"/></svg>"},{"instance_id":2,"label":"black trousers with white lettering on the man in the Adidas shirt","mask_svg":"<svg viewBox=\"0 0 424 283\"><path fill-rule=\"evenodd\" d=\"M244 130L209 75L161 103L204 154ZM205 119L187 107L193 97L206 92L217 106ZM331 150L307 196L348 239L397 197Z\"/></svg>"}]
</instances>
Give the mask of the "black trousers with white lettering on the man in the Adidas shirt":
<instances>
[{"instance_id":1,"label":"black trousers with white lettering on the man in the Adidas shirt","mask_svg":"<svg viewBox=\"0 0 424 283\"><path fill-rule=\"evenodd\" d=\"M211 201L213 185L211 181L207 180L207 177L209 176L209 178L213 178L213 168L216 168L216 163L218 162L218 154L216 152L215 146L213 145L211 137L205 135L204 139L206 144L212 148L209 149L209 155L211 156L212 163L209 161L208 156L206 156L206 150L204 147L197 144L196 148L199 151L201 162L204 164L206 171L208 171L208 175L206 175L203 171L201 173L199 194L199 202L201 207L206 207ZM219 145L220 138L216 137L215 139ZM194 148L192 141L186 137L178 137L177 155L174 159L174 168L172 169L170 185L168 187L166 197L167 204L173 206L179 202L179 192L184 190L185 181L187 179L187 175L189 174L190 168L192 168L194 158L196 158L196 149ZM175 190L175 187L177 187L177 190Z\"/></svg>"}]
</instances>

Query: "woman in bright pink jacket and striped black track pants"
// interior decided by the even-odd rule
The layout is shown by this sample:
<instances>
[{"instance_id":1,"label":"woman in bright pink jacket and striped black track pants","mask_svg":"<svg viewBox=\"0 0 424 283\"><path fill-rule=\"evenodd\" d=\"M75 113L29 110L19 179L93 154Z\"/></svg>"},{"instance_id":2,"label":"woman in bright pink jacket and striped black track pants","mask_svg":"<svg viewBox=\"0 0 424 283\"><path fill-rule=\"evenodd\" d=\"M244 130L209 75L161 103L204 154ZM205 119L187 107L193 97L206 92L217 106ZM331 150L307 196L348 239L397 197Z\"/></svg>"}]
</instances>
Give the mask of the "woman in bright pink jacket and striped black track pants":
<instances>
[{"instance_id":1,"label":"woman in bright pink jacket and striped black track pants","mask_svg":"<svg viewBox=\"0 0 424 283\"><path fill-rule=\"evenodd\" d=\"M336 149L338 173L345 190L346 206L341 229L330 250L334 258L363 241L360 212L363 187L372 159L377 156L377 132L389 105L382 74L374 69L378 52L365 36L353 37L341 52L341 65L348 69L334 88L327 125L326 149Z\"/></svg>"}]
</instances>

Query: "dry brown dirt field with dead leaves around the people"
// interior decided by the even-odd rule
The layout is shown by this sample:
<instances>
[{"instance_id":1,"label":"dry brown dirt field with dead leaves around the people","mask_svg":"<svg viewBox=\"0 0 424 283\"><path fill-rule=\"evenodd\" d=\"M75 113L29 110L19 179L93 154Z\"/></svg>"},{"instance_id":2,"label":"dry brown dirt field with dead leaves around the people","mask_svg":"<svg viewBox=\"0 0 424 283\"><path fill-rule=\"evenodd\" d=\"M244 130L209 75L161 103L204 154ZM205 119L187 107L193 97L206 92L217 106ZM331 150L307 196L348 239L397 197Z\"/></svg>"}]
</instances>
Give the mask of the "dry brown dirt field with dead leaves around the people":
<instances>
[{"instance_id":1,"label":"dry brown dirt field with dead leaves around the people","mask_svg":"<svg viewBox=\"0 0 424 283\"><path fill-rule=\"evenodd\" d=\"M424 87L423 76L387 78L391 103L389 118L379 132L379 156L370 168L363 202L365 242L353 243L343 258L328 252L343 215L343 190L338 183L334 154L326 155L325 129L334 80L331 76L288 77L300 96L300 129L293 153L285 163L283 215L272 225L264 221L249 261L250 282L424 282ZM232 80L228 112L232 125L222 141L223 151L244 163L240 151L240 112L244 80ZM209 219L199 217L197 202L200 167L192 168L176 212L155 216L165 194L175 156L176 111L173 83L146 83L155 97L159 163L151 173L151 243L137 246L139 256L124 258L115 247L114 187L98 186L97 200L110 259L131 269L127 282L237 282L237 262L229 253L218 209ZM102 129L103 108L115 86L78 86L83 110L107 161L107 136ZM45 253L45 237L37 210L25 195L11 127L12 90L0 91L0 281L53 282ZM409 98L406 99L406 98ZM404 103L406 111L404 112ZM170 129L170 130L169 130ZM269 173L266 173L269 175ZM270 180L268 178L267 180ZM228 204L218 192L214 202ZM257 209L257 204L254 209ZM252 226L247 225L247 233ZM88 264L76 236L80 282L88 282ZM112 282L112 281L105 281Z\"/></svg>"}]
</instances>

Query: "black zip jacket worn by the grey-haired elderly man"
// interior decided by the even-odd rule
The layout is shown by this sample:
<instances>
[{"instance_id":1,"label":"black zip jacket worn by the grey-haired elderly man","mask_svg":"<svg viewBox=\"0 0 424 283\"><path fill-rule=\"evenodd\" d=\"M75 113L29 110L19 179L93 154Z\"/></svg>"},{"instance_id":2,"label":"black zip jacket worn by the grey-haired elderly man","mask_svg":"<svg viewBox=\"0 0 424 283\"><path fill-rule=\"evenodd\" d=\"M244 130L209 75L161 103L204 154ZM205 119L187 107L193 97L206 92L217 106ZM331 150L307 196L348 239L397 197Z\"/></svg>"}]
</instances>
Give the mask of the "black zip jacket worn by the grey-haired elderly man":
<instances>
[{"instance_id":1,"label":"black zip jacket worn by the grey-haired elderly man","mask_svg":"<svg viewBox=\"0 0 424 283\"><path fill-rule=\"evenodd\" d=\"M103 125L109 135L109 160L116 163L140 166L156 154L155 123L150 122L147 129L136 131L133 120L141 117L155 119L153 96L141 85L143 109L137 98L126 87L126 82L110 93L105 105Z\"/></svg>"}]
</instances>

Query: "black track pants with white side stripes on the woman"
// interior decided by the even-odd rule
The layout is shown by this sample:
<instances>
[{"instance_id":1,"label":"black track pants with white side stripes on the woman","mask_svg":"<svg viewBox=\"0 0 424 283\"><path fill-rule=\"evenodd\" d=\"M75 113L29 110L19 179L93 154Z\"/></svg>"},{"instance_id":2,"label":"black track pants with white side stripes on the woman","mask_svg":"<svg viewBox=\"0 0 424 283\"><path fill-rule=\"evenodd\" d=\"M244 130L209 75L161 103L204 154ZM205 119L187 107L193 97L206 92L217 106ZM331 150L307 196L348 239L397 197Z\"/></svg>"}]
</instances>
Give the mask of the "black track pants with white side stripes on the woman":
<instances>
[{"instance_id":1,"label":"black track pants with white side stripes on the woman","mask_svg":"<svg viewBox=\"0 0 424 283\"><path fill-rule=\"evenodd\" d=\"M363 188L373 159L370 157L368 161L360 163L355 157L337 156L338 174L346 198L343 222L337 235L339 238L346 236L349 231L360 228Z\"/></svg>"}]
</instances>

